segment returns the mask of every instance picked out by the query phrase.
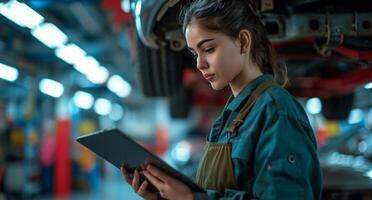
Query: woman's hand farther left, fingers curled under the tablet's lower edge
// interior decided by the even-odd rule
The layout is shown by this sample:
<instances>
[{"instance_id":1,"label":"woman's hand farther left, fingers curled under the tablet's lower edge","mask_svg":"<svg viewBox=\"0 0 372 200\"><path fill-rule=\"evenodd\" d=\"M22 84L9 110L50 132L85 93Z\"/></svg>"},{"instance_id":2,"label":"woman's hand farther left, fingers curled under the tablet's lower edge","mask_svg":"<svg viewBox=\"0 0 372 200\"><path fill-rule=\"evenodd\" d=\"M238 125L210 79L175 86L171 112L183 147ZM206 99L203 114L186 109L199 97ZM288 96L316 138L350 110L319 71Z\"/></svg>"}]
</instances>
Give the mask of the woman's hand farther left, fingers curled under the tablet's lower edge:
<instances>
[{"instance_id":1,"label":"woman's hand farther left, fingers curled under the tablet's lower edge","mask_svg":"<svg viewBox=\"0 0 372 200\"><path fill-rule=\"evenodd\" d=\"M148 181L145 180L143 183L140 183L140 175L137 170L134 171L133 179L129 178L127 169L125 168L125 165L123 164L121 166L121 173L124 176L125 181L132 186L133 190L140 195L145 200L157 200L156 193L150 192L147 190L147 186L149 185ZM141 185L140 185L141 184Z\"/></svg>"}]
</instances>

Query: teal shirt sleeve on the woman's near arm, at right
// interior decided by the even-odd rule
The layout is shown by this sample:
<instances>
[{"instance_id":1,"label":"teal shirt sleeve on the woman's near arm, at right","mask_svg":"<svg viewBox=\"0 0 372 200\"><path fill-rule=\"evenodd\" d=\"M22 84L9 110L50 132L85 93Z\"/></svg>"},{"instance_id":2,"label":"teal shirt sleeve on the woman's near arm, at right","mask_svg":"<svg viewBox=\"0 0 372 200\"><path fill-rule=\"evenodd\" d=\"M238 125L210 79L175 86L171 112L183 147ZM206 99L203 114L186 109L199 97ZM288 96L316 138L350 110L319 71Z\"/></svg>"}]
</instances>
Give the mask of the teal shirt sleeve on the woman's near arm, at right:
<instances>
[{"instance_id":1,"label":"teal shirt sleeve on the woman's near arm, at right","mask_svg":"<svg viewBox=\"0 0 372 200\"><path fill-rule=\"evenodd\" d=\"M255 151L257 199L320 199L321 176L313 131L289 115L264 123Z\"/></svg>"}]
</instances>

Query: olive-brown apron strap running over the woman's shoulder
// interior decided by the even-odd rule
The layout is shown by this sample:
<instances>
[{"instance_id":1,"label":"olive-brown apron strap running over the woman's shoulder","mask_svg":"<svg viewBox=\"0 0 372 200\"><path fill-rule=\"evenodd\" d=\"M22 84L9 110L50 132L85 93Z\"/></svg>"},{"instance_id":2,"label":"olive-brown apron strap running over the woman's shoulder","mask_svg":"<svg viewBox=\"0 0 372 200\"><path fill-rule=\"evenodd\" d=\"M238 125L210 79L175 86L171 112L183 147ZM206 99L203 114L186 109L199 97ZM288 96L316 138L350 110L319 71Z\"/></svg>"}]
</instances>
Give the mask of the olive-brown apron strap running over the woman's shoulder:
<instances>
[{"instance_id":1,"label":"olive-brown apron strap running over the woman's shoulder","mask_svg":"<svg viewBox=\"0 0 372 200\"><path fill-rule=\"evenodd\" d=\"M248 101L244 104L243 108L239 111L238 115L235 119L230 123L229 127L227 128L227 132L230 133L231 136L235 135L236 130L239 126L243 123L244 119L247 117L250 109L253 107L254 103L256 102L257 98L271 86L277 85L273 80L267 80L261 83L251 94Z\"/></svg>"}]
</instances>

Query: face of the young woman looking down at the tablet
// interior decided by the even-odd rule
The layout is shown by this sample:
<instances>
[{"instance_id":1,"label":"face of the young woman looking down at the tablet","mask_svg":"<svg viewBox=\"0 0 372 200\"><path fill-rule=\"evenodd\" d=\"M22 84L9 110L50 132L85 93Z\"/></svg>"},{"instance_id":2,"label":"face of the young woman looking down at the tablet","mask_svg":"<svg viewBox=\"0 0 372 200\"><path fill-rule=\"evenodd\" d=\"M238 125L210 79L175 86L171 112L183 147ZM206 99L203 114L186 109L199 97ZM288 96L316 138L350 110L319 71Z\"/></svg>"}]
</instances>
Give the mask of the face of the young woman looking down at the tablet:
<instances>
[{"instance_id":1,"label":"face of the young woman looking down at the tablet","mask_svg":"<svg viewBox=\"0 0 372 200\"><path fill-rule=\"evenodd\" d=\"M244 56L237 41L223 33L208 31L195 21L187 26L185 35L197 68L213 89L225 88L242 72Z\"/></svg>"}]
</instances>

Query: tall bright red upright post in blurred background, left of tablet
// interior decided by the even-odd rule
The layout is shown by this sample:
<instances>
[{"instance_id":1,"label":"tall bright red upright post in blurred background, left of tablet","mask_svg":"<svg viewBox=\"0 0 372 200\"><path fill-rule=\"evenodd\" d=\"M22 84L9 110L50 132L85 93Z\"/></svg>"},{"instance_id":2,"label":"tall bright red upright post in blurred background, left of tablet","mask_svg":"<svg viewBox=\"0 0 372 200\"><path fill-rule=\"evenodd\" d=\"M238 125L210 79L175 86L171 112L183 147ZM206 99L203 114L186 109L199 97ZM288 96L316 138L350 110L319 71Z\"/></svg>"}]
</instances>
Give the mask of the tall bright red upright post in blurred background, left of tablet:
<instances>
[{"instance_id":1,"label":"tall bright red upright post in blurred background, left of tablet","mask_svg":"<svg viewBox=\"0 0 372 200\"><path fill-rule=\"evenodd\" d=\"M70 121L68 119L57 119L56 124L53 194L56 197L67 197L71 189Z\"/></svg>"}]
</instances>

